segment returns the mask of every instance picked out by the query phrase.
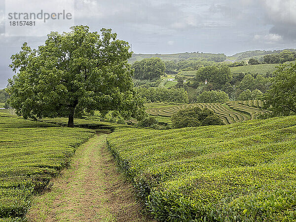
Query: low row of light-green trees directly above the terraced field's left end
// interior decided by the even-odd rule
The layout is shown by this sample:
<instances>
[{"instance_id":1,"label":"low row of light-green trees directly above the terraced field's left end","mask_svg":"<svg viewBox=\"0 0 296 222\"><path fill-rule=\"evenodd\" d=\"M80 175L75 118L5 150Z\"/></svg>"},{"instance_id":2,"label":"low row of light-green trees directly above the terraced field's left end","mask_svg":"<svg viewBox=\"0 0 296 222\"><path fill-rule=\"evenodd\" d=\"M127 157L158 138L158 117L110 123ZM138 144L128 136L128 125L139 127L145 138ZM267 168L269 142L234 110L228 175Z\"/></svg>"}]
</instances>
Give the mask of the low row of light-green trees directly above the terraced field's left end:
<instances>
[{"instance_id":1,"label":"low row of light-green trees directly above the terraced field's left end","mask_svg":"<svg viewBox=\"0 0 296 222\"><path fill-rule=\"evenodd\" d=\"M183 88L149 87L138 88L138 94L147 102L188 103L188 95Z\"/></svg>"}]
</instances>

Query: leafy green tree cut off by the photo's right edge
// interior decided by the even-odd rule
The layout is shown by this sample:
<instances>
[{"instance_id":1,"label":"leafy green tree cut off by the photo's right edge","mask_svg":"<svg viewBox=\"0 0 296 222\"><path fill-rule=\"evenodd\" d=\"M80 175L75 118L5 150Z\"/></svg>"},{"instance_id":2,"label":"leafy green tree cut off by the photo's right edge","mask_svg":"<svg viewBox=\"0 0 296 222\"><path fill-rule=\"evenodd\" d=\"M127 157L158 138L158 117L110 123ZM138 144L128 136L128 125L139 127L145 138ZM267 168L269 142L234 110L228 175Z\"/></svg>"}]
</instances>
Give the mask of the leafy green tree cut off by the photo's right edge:
<instances>
[{"instance_id":1,"label":"leafy green tree cut off by the photo's right edge","mask_svg":"<svg viewBox=\"0 0 296 222\"><path fill-rule=\"evenodd\" d=\"M273 115L296 115L296 63L281 65L265 93L265 108Z\"/></svg>"}]
</instances>

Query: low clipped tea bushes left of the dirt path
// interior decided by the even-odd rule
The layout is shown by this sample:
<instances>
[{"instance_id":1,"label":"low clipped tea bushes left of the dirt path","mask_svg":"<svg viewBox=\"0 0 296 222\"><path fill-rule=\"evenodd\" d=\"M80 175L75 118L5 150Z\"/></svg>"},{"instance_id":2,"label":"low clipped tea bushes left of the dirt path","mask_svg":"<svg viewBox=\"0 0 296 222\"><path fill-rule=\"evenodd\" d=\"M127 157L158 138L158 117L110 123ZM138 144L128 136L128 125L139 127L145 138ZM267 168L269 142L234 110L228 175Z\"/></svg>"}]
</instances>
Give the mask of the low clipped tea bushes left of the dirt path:
<instances>
[{"instance_id":1,"label":"low clipped tea bushes left of the dirt path","mask_svg":"<svg viewBox=\"0 0 296 222\"><path fill-rule=\"evenodd\" d=\"M0 112L0 221L21 221L32 194L50 185L93 130L23 120Z\"/></svg>"}]
</instances>

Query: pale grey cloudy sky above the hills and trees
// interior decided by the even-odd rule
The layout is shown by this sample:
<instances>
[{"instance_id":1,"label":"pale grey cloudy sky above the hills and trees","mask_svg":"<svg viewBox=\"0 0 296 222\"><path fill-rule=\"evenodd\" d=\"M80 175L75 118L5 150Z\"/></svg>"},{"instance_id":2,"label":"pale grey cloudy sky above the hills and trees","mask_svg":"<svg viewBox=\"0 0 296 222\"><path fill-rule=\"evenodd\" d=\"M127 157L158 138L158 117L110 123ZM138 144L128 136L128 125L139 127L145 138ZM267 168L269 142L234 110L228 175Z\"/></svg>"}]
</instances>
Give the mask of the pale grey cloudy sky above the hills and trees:
<instances>
[{"instance_id":1,"label":"pale grey cloudy sky above the hills and trees","mask_svg":"<svg viewBox=\"0 0 296 222\"><path fill-rule=\"evenodd\" d=\"M111 28L118 38L132 44L135 53L202 51L232 55L255 49L296 48L296 0L74 1L75 25L88 25L91 31ZM32 0L20 2L15 11L29 7ZM47 0L38 2L47 7ZM0 88L13 74L8 68L10 56L21 44L26 41L36 47L45 40L5 36L5 19L5 1L0 0ZM38 31L46 35L48 27ZM53 31L69 29L57 26Z\"/></svg>"}]
</instances>

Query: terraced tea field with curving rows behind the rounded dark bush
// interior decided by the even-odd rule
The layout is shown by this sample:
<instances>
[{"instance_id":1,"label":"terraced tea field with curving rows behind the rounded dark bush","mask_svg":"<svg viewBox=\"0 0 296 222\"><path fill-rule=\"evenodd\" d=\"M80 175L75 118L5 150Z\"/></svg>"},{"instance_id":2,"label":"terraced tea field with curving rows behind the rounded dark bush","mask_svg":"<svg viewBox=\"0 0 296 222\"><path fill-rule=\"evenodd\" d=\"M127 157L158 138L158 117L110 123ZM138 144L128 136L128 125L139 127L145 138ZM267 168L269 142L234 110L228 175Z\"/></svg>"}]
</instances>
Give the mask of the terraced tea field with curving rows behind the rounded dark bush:
<instances>
[{"instance_id":1,"label":"terraced tea field with curving rows behind the rounded dark bush","mask_svg":"<svg viewBox=\"0 0 296 222\"><path fill-rule=\"evenodd\" d=\"M197 103L197 104L183 104L183 105L166 105L166 104L146 104L147 113L156 118L167 118L177 113L179 110L185 108L199 107L201 109L207 108L217 114L225 124L232 124L245 120L252 120L258 118L260 114L268 111L260 110L263 106L262 101L235 101L227 103ZM161 121L161 119L158 119Z\"/></svg>"}]
</instances>

